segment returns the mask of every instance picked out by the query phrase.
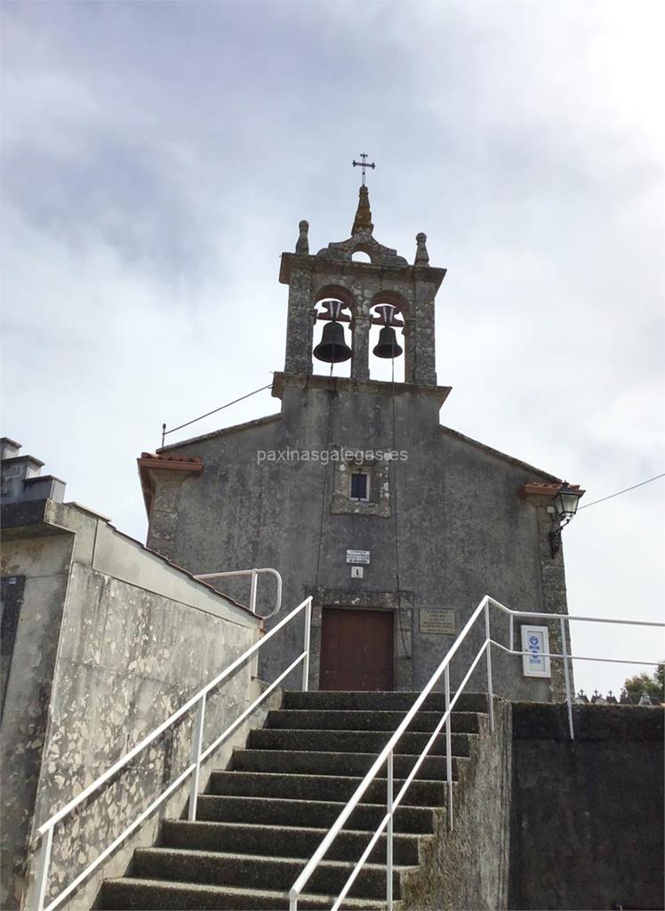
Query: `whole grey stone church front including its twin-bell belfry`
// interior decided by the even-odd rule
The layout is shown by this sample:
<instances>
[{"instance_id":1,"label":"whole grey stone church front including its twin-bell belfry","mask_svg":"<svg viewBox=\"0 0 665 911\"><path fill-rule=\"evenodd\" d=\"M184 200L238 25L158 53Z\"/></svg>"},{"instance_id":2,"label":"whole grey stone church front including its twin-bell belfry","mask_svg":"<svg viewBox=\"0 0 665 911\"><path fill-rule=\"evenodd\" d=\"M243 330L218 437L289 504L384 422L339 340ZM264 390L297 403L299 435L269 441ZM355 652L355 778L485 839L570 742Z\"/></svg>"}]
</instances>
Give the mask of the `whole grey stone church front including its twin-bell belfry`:
<instances>
[{"instance_id":1,"label":"whole grey stone church front including its twin-bell belfry","mask_svg":"<svg viewBox=\"0 0 665 911\"><path fill-rule=\"evenodd\" d=\"M435 296L445 269L430 265L425 234L413 263L376 241L364 186L348 240L312 254L308 229L302 221L295 251L281 256L279 412L138 459L148 547L194 574L278 569L282 616L312 595L312 689L418 690L484 595L566 612L563 554L550 548L562 482L440 424L450 388L435 373ZM377 326L374 352L404 357L399 382L370 375ZM345 359L350 375L334 375ZM559 652L559 625L546 625ZM493 614L492 630L507 644L505 617ZM483 638L477 624L454 679ZM267 680L302 650L297 630L271 644ZM541 679L525 677L516 656L494 650L493 661L498 693L561 698L557 660ZM485 689L483 674L472 689Z\"/></svg>"}]
</instances>

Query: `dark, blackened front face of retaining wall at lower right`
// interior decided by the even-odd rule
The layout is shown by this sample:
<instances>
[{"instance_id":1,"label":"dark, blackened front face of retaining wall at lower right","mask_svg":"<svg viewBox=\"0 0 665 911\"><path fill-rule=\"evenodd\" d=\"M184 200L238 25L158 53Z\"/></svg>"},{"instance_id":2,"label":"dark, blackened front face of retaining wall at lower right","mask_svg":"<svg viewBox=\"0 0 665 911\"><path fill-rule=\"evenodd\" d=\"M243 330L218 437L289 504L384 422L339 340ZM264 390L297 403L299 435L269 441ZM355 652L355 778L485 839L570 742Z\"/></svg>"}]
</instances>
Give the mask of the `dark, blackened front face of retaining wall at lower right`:
<instances>
[{"instance_id":1,"label":"dark, blackened front face of retaining wall at lower right","mask_svg":"<svg viewBox=\"0 0 665 911\"><path fill-rule=\"evenodd\" d=\"M659 709L513 706L511 908L662 908Z\"/></svg>"}]
</instances>

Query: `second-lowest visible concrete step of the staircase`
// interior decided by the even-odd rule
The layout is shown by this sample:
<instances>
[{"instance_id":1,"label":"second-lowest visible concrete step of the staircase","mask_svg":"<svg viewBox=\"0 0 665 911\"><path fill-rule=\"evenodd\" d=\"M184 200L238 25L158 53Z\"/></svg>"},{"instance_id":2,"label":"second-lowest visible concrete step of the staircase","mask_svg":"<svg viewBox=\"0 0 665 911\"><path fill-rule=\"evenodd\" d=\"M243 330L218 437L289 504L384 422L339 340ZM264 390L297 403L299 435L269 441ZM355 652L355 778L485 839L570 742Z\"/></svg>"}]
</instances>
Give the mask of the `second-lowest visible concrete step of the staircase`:
<instances>
[{"instance_id":1,"label":"second-lowest visible concrete step of the staircase","mask_svg":"<svg viewBox=\"0 0 665 911\"><path fill-rule=\"evenodd\" d=\"M183 851L179 848L137 848L132 873L141 879L163 879L180 883L242 885L282 891L291 888L302 872L301 859L221 854L215 851ZM400 875L395 867L393 889L400 897ZM312 873L308 888L313 894L339 894L353 870L344 861L322 860ZM351 886L350 895L381 899L385 895L385 869L365 864Z\"/></svg>"}]
</instances>

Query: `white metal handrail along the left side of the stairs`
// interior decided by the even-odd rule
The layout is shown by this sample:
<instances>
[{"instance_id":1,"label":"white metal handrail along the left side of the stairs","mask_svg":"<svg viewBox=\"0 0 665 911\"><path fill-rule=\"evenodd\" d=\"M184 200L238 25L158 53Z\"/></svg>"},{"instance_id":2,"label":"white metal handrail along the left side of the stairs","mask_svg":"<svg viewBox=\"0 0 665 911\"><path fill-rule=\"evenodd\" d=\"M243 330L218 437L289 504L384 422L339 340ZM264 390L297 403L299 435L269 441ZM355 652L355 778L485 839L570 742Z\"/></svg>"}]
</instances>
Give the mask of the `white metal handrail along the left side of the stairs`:
<instances>
[{"instance_id":1,"label":"white metal handrail along the left side of the stairs","mask_svg":"<svg viewBox=\"0 0 665 911\"><path fill-rule=\"evenodd\" d=\"M250 570L252 571L252 570ZM255 570L256 572L267 571L267 570ZM276 573L276 570L272 570ZM245 570L243 570L243 573ZM276 573L277 574L277 573ZM223 575L223 574L221 574ZM232 575L232 574L230 574ZM279 576L279 574L277 574ZM281 579L280 579L280 592L281 592ZM206 749L203 749L203 724L205 720L205 710L206 710L206 698L208 693L220 685L221 681L228 679L231 674L238 670L247 660L249 660L252 655L254 655L258 650L260 650L266 642L270 641L283 627L285 627L292 619L299 616L302 611L305 613L305 622L304 622L304 635L303 635L303 650L298 657L292 661L289 667L286 670L283 670L277 680L273 681L269 687L266 688L261 695L251 703L251 706L242 712L240 718L237 718L232 722L224 732L220 734ZM69 801L61 810L58 810L56 814L53 814L46 823L39 826L36 831L36 836L41 838L41 846L39 851L39 860L37 865L37 875L36 875L36 892L35 892L35 901L33 906L35 911L54 911L54 909L59 906L68 895L70 895L74 889L80 885L88 875L90 875L97 866L100 865L107 856L110 855L115 849L121 844L125 839L134 832L140 824L142 824L150 814L153 813L157 807L162 804L171 793L173 793L180 784L184 783L189 776L191 776L191 781L189 783L189 820L196 819L196 810L197 810L197 800L199 796L199 779L200 779L200 765L208 758L211 752L214 752L222 742L227 740L230 737L230 734L233 733L242 722L244 722L251 713L264 701L272 691L274 691L288 675L294 670L299 664L302 663L302 690L306 691L308 689L309 681L309 672L310 672L310 634L312 630L312 597L304 599L297 608L293 609L290 614L287 614L286 617L280 620L270 632L266 633L258 642L255 642L249 649L245 650L239 658L232 661L228 668L222 670L210 683L207 683L204 687L200 689L195 695L193 695L188 701L181 705L177 711L174 711L169 718L162 722L159 727L155 728L154 731L150 732L148 736L144 737L142 741L138 742L137 745L127 752L124 756L118 759L117 763L114 763L110 769L107 770L104 774L100 775L92 784L88 784L87 788L77 796ZM193 726L192 732L192 743L191 743L191 761L187 768L179 774L178 778L166 788L165 791L159 794L159 796L148 806L148 809L144 810L141 814L138 815L128 827L118 835L118 838L109 844L104 851L87 865L87 867L77 875L77 877L69 883L57 896L54 898L51 903L44 908L44 902L46 898L46 885L48 880L48 867L51 857L51 847L53 844L53 833L56 827L62 819L64 819L68 814L82 804L88 797L96 793L103 784L107 783L114 775L116 775L121 769L124 769L128 763L131 763L140 752L145 750L150 743L154 742L160 734L167 731L175 722L177 722L183 715L185 715L190 709L194 706L197 707L196 719Z\"/></svg>"}]
</instances>

